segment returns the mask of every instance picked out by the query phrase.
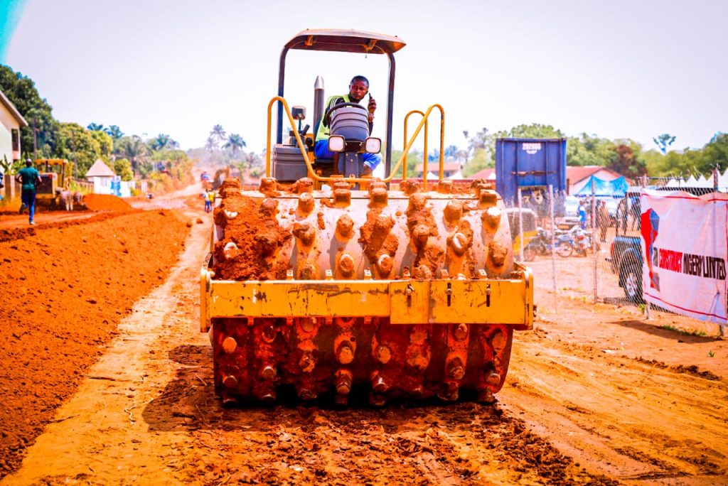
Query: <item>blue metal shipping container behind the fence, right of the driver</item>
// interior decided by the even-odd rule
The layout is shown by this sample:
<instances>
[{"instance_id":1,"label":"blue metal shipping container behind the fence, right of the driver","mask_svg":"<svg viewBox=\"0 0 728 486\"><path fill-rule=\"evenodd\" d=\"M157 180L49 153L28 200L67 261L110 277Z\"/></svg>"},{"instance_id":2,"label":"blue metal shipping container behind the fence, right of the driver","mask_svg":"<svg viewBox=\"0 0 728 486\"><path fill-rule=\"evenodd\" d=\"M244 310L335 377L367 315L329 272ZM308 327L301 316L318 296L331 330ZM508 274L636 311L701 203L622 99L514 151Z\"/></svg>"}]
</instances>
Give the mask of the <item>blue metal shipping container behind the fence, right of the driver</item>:
<instances>
[{"instance_id":1,"label":"blue metal shipping container behind the fence, right of the driver","mask_svg":"<svg viewBox=\"0 0 728 486\"><path fill-rule=\"evenodd\" d=\"M548 194L548 186L560 199L566 195L566 138L496 140L496 191L506 206L518 205L518 188Z\"/></svg>"}]
</instances>

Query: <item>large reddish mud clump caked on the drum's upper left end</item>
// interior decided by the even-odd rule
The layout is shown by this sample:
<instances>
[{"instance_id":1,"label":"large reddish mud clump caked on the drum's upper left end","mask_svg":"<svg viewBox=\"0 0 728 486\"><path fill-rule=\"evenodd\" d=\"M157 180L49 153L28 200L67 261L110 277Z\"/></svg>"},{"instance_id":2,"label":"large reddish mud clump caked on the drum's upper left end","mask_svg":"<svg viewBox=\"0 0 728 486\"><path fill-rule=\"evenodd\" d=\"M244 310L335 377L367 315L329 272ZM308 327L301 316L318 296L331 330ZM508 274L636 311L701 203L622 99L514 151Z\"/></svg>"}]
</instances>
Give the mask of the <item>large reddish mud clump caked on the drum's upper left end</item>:
<instances>
[{"instance_id":1,"label":"large reddish mud clump caked on the drum's upper left end","mask_svg":"<svg viewBox=\"0 0 728 486\"><path fill-rule=\"evenodd\" d=\"M223 239L215 243L215 276L224 280L271 280L285 278L285 262L277 252L290 239L290 231L276 219L275 199L245 197L227 188L215 208L215 224Z\"/></svg>"}]
</instances>

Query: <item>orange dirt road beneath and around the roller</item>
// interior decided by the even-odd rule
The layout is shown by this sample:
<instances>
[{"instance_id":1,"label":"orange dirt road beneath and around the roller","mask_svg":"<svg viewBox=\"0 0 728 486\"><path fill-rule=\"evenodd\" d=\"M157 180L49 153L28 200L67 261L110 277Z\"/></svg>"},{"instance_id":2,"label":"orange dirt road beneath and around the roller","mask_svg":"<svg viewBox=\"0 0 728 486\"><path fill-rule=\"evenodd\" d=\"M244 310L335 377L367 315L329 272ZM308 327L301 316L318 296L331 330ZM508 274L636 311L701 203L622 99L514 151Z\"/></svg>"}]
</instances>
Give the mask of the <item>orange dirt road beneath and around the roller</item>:
<instances>
[{"instance_id":1,"label":"orange dirt road beneath and around the roller","mask_svg":"<svg viewBox=\"0 0 728 486\"><path fill-rule=\"evenodd\" d=\"M177 266L1 484L728 483L728 342L545 290L539 306L558 314L515 335L496 407L223 409L197 331L210 225L197 217Z\"/></svg>"}]
</instances>

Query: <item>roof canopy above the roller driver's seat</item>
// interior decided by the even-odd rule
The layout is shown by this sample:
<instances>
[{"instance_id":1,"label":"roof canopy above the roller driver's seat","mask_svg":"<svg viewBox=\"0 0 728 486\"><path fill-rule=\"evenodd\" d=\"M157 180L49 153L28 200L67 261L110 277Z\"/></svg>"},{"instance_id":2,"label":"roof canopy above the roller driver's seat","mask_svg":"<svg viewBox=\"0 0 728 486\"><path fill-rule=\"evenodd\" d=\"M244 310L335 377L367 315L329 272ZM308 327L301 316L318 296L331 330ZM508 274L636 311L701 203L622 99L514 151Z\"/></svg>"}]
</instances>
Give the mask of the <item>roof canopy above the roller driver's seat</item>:
<instances>
[{"instance_id":1,"label":"roof canopy above the roller driver's seat","mask_svg":"<svg viewBox=\"0 0 728 486\"><path fill-rule=\"evenodd\" d=\"M405 47L405 42L396 36L381 33L310 29L298 33L285 47L310 51L360 52L363 54L392 54Z\"/></svg>"}]
</instances>

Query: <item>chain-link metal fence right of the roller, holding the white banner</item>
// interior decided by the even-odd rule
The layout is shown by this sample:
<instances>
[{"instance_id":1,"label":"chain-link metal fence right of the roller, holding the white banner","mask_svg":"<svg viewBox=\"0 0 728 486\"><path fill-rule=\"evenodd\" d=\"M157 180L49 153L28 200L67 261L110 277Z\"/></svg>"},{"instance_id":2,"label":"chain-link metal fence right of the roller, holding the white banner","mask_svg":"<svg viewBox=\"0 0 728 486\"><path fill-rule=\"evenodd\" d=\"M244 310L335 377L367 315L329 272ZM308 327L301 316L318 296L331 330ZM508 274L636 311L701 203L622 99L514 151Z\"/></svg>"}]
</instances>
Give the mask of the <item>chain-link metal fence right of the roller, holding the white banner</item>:
<instances>
[{"instance_id":1,"label":"chain-link metal fence right of the roller, holding the white banner","mask_svg":"<svg viewBox=\"0 0 728 486\"><path fill-rule=\"evenodd\" d=\"M641 178L640 186L702 195L714 187L688 187L674 178ZM663 327L724 335L724 327L645 303L642 298L640 188L627 196L553 194L550 188L519 191L508 207L516 258L534 270L539 289L638 310ZM579 207L581 206L581 207ZM525 243L525 244L524 244ZM558 313L558 308L550 309Z\"/></svg>"}]
</instances>

